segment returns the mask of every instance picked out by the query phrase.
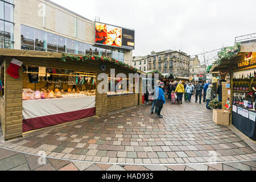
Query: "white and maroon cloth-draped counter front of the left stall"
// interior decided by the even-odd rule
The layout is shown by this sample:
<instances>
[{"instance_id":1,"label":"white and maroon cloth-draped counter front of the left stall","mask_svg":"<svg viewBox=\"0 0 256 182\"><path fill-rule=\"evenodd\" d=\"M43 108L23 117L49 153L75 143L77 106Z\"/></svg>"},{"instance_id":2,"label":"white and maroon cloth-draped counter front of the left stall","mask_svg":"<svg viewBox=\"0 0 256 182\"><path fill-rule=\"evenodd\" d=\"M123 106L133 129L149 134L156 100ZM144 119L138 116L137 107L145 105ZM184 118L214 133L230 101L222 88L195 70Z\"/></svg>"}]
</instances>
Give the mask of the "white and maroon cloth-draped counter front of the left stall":
<instances>
[{"instance_id":1,"label":"white and maroon cloth-draped counter front of the left stall","mask_svg":"<svg viewBox=\"0 0 256 182\"><path fill-rule=\"evenodd\" d=\"M23 101L23 132L95 115L95 96Z\"/></svg>"}]
</instances>

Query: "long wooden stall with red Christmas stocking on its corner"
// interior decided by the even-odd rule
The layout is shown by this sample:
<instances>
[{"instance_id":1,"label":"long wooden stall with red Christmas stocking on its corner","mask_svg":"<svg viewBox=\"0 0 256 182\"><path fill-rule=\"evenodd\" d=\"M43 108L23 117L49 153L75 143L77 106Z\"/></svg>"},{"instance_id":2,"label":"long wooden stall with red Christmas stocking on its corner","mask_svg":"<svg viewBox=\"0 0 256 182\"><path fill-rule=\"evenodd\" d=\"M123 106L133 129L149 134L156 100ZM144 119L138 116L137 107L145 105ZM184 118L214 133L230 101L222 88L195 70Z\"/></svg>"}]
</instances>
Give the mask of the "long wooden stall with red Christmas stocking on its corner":
<instances>
[{"instance_id":1,"label":"long wooden stall with red Christmas stocking on its corner","mask_svg":"<svg viewBox=\"0 0 256 182\"><path fill-rule=\"evenodd\" d=\"M107 57L77 56L0 49L0 121L5 139L142 104L141 80L139 93L130 93L128 87L98 92L100 73L108 74L110 85L110 69L115 75L124 73L127 80L136 69Z\"/></svg>"}]
</instances>

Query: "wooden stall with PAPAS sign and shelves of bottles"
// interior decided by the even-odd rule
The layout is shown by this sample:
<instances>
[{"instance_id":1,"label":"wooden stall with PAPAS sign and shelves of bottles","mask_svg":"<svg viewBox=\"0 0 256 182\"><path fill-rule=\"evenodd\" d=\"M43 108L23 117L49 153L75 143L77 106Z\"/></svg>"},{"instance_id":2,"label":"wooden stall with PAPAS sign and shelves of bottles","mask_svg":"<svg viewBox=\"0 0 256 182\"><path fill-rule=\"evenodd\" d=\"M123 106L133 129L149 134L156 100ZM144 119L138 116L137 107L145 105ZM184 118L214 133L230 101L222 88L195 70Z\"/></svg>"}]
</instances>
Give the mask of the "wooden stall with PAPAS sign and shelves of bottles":
<instances>
[{"instance_id":1,"label":"wooden stall with PAPAS sign and shelves of bottles","mask_svg":"<svg viewBox=\"0 0 256 182\"><path fill-rule=\"evenodd\" d=\"M222 109L226 109L229 98L229 123L255 141L256 52L240 52L230 59L222 59L212 72L219 72L226 80L222 82Z\"/></svg>"}]
</instances>

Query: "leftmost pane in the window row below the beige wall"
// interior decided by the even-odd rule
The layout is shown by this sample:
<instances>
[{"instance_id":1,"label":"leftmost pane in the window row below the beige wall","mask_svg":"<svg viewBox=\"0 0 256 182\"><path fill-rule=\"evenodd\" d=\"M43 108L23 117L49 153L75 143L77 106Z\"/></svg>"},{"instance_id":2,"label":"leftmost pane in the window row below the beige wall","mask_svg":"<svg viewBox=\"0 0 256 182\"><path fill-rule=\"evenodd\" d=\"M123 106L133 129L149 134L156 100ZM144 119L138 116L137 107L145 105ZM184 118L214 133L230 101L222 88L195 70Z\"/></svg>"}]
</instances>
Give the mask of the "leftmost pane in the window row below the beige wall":
<instances>
[{"instance_id":1,"label":"leftmost pane in the window row below the beige wall","mask_svg":"<svg viewBox=\"0 0 256 182\"><path fill-rule=\"evenodd\" d=\"M34 28L21 25L20 35L21 35L21 44L22 44L21 49L34 50L34 46L35 46Z\"/></svg>"}]
</instances>

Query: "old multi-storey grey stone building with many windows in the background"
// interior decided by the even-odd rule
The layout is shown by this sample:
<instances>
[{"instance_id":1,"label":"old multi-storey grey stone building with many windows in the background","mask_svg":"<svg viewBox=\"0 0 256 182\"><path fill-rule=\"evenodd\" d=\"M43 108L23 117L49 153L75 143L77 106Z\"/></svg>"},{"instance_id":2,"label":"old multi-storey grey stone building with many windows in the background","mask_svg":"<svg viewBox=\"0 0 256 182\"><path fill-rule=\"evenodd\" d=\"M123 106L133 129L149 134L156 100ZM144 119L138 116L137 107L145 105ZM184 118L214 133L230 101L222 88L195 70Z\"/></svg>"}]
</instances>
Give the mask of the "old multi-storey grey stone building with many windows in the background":
<instances>
[{"instance_id":1,"label":"old multi-storey grey stone building with many windows in the background","mask_svg":"<svg viewBox=\"0 0 256 182\"><path fill-rule=\"evenodd\" d=\"M178 51L151 52L147 56L148 71L159 71L160 73L169 73L177 77L189 76L189 55Z\"/></svg>"}]
</instances>

